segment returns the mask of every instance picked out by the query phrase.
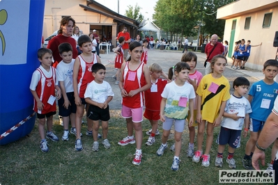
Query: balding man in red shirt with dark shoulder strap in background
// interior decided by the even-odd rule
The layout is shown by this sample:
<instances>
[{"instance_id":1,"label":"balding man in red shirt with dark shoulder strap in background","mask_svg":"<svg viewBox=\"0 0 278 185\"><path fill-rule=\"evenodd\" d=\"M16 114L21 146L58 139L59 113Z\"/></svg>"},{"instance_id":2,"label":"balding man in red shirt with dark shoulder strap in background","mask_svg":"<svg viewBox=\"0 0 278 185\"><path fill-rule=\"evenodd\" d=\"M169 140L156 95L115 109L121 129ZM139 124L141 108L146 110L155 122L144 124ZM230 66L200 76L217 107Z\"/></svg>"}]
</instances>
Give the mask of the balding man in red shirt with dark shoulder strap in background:
<instances>
[{"instance_id":1,"label":"balding man in red shirt with dark shoulder strap in background","mask_svg":"<svg viewBox=\"0 0 278 185\"><path fill-rule=\"evenodd\" d=\"M210 42L205 47L205 53L207 56L206 63L206 74L210 73L210 61L213 59L213 56L217 56L219 54L223 55L224 47L220 42L217 42L218 36L213 34L210 38Z\"/></svg>"}]
</instances>

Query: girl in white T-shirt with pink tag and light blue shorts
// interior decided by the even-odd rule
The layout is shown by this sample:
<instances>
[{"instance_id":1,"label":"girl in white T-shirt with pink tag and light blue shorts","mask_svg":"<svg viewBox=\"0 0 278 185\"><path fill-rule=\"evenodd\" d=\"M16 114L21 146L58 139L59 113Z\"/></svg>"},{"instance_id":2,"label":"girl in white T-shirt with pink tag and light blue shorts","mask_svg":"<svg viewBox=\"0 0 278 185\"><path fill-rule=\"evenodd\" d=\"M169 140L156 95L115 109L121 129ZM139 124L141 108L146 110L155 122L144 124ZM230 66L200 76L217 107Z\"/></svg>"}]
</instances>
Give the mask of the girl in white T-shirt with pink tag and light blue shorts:
<instances>
[{"instance_id":1,"label":"girl in white T-shirt with pink tag and light blue shorts","mask_svg":"<svg viewBox=\"0 0 278 185\"><path fill-rule=\"evenodd\" d=\"M185 128L185 118L187 117L188 109L193 113L193 99L196 97L193 86L186 83L189 73L190 66L187 63L179 62L174 67L171 67L169 69L169 79L175 74L176 80L167 84L161 95L160 120L163 122L163 134L162 144L156 154L157 156L162 156L164 150L167 149L167 140L173 121L175 121L176 150L171 166L174 171L178 170L180 164L181 136ZM188 120L191 126L193 114Z\"/></svg>"}]
</instances>

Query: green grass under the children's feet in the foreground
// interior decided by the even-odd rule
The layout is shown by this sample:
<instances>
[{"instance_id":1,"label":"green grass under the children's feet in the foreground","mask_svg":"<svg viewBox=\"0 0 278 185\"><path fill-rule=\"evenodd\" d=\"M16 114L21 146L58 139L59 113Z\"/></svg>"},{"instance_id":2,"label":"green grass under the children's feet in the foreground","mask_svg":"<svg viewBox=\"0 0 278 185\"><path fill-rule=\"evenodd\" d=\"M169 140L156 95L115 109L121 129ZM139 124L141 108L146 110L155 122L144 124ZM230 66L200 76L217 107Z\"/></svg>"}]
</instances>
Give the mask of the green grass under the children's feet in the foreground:
<instances>
[{"instance_id":1,"label":"green grass under the children's feet in the foreground","mask_svg":"<svg viewBox=\"0 0 278 185\"><path fill-rule=\"evenodd\" d=\"M56 115L53 129L61 138L63 127L58 121ZM148 120L142 122L142 128L143 143L146 143L148 136L145 132L150 129ZM38 123L36 123L29 136L0 146L0 184L218 184L220 168L214 166L217 144L213 143L208 168L202 167L201 162L193 163L191 158L187 158L185 152L189 142L187 126L185 128L180 154L180 170L173 172L171 170L173 152L168 149L163 156L156 155L162 134L156 136L154 145L142 145L141 165L132 165L136 145L120 146L117 144L118 140L127 136L125 120L121 118L119 110L111 110L108 135L111 148L107 150L100 144L99 152L92 151L93 138L85 136L86 124L84 124L82 126L84 150L82 152L75 151L75 136L70 135L68 141L59 140L55 143L49 140L49 152L43 153L40 151L40 136ZM161 122L159 129L162 133ZM218 131L219 128L216 128L215 139ZM241 147L235 151L237 170L244 169L241 159L245 153L246 141L247 138L242 138ZM168 143L169 147L174 143L173 131L171 131ZM270 153L271 148L266 151L267 162L270 160ZM224 158L226 156L227 148ZM221 169L229 170L226 162Z\"/></svg>"}]
</instances>

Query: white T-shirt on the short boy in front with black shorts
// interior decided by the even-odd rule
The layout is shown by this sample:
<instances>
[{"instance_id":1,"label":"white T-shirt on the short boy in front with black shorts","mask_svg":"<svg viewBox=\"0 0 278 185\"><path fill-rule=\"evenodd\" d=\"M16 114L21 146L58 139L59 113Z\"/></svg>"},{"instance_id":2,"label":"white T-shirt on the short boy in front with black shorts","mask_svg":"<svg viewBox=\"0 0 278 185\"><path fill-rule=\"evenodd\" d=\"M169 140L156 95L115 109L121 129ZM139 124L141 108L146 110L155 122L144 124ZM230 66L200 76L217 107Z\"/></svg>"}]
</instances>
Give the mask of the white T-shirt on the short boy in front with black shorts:
<instances>
[{"instance_id":1,"label":"white T-shirt on the short boy in front with black shorts","mask_svg":"<svg viewBox=\"0 0 278 185\"><path fill-rule=\"evenodd\" d=\"M89 97L94 102L104 103L107 97L113 97L114 93L110 84L107 81L103 81L101 84L92 81L88 83L84 98Z\"/></svg>"}]
</instances>

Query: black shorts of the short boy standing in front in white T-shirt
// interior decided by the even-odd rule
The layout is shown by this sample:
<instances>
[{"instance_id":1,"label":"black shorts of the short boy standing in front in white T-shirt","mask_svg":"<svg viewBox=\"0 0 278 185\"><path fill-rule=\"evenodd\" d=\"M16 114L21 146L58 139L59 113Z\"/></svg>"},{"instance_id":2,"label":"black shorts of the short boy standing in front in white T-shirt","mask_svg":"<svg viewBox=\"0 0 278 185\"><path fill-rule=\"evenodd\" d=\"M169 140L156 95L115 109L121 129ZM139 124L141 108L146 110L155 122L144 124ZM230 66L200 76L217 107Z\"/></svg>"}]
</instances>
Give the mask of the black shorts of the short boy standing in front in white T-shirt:
<instances>
[{"instance_id":1,"label":"black shorts of the short boy standing in front in white T-shirt","mask_svg":"<svg viewBox=\"0 0 278 185\"><path fill-rule=\"evenodd\" d=\"M109 106L107 105L107 108L103 109L98 106L90 105L88 107L87 117L93 121L102 120L106 122L110 120Z\"/></svg>"}]
</instances>

